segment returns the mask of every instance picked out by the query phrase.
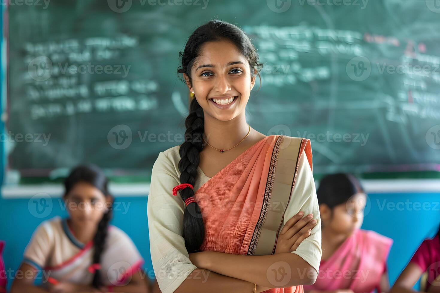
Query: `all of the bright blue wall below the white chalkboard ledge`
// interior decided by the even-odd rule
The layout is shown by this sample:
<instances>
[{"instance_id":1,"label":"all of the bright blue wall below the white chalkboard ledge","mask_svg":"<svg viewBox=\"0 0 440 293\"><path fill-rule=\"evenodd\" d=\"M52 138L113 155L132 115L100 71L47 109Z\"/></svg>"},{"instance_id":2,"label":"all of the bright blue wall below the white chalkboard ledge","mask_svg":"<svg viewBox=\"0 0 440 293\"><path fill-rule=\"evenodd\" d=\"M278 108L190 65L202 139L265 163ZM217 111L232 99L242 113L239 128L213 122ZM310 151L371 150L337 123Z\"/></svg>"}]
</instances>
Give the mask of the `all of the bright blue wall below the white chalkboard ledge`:
<instances>
[{"instance_id":1,"label":"all of the bright blue wall below the white chalkboard ledge","mask_svg":"<svg viewBox=\"0 0 440 293\"><path fill-rule=\"evenodd\" d=\"M369 199L370 210L367 207L362 228L374 230L394 240L388 259L389 279L392 284L422 240L436 234L440 222L440 194L384 193L370 194ZM52 211L45 218L34 217L28 210L28 202L29 199L0 198L0 239L6 240L4 261L9 270L18 268L26 244L41 221L56 215L66 215L58 199L54 199ZM150 278L154 277L148 237L147 198L121 197L116 198L115 202L120 202L121 208L114 211L112 224L133 239L146 261L146 273ZM425 207L430 205L430 208L422 207L417 210L423 203ZM11 286L10 276L8 286Z\"/></svg>"}]
</instances>

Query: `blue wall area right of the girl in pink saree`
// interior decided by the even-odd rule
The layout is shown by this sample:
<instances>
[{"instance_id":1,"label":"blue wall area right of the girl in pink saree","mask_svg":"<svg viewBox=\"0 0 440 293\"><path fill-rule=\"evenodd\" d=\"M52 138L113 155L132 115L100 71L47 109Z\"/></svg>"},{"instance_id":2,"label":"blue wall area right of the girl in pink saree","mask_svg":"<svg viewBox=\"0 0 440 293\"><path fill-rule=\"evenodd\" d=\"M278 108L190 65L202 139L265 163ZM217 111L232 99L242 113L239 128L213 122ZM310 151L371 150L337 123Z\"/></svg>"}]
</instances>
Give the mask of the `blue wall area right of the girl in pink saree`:
<instances>
[{"instance_id":1,"label":"blue wall area right of the girl in pink saree","mask_svg":"<svg viewBox=\"0 0 440 293\"><path fill-rule=\"evenodd\" d=\"M370 194L369 198L371 209L369 213L366 209L362 228L394 240L388 257L392 285L422 241L436 235L440 223L440 194L387 193ZM414 287L418 289L418 284Z\"/></svg>"}]
</instances>

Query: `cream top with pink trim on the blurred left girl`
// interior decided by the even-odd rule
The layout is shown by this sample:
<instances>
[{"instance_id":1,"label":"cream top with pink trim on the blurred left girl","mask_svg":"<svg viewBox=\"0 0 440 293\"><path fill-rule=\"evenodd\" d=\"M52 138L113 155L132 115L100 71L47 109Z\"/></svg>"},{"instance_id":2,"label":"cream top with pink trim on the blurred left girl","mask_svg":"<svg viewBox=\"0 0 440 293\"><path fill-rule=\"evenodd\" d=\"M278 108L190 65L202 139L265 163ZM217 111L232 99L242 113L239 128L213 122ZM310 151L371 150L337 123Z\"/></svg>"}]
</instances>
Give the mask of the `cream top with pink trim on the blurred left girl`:
<instances>
[{"instance_id":1,"label":"cream top with pink trim on the blurred left girl","mask_svg":"<svg viewBox=\"0 0 440 293\"><path fill-rule=\"evenodd\" d=\"M91 285L93 280L93 241L78 241L59 216L42 222L29 244L23 261L42 272L43 286L47 278L58 281ZM142 256L125 232L108 226L108 234L100 262L100 277L106 286L124 285L144 263Z\"/></svg>"}]
</instances>

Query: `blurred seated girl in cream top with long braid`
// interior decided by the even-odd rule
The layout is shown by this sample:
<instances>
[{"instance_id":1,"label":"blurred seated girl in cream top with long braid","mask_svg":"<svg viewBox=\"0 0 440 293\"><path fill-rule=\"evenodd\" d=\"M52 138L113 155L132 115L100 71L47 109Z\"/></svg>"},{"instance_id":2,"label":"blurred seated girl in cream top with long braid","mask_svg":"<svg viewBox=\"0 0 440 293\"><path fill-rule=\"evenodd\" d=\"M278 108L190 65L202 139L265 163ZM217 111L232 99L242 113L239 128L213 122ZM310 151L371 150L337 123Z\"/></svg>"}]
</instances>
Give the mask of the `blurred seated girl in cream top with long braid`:
<instances>
[{"instance_id":1,"label":"blurred seated girl in cream top with long braid","mask_svg":"<svg viewBox=\"0 0 440 293\"><path fill-rule=\"evenodd\" d=\"M109 224L113 196L107 185L96 166L71 171L63 195L69 217L56 216L37 227L11 293L148 292L139 251L128 235ZM33 284L38 274L41 286Z\"/></svg>"}]
</instances>

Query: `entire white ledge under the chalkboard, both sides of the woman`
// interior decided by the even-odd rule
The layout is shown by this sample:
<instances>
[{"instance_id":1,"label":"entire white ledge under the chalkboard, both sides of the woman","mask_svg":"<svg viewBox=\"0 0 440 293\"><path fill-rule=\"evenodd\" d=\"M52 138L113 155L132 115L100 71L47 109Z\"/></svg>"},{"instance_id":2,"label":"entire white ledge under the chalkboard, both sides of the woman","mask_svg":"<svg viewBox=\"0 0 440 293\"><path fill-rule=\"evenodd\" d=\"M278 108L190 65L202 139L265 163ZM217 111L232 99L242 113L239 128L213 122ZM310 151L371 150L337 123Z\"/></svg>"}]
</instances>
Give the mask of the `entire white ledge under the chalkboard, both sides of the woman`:
<instances>
[{"instance_id":1,"label":"entire white ledge under the chalkboard, both sides of the woman","mask_svg":"<svg viewBox=\"0 0 440 293\"><path fill-rule=\"evenodd\" d=\"M361 179L367 193L426 193L440 192L440 179ZM319 182L315 182L319 186ZM117 197L147 196L148 183L110 183L110 192ZM1 194L5 199L32 197L61 197L62 184L4 185Z\"/></svg>"}]
</instances>

